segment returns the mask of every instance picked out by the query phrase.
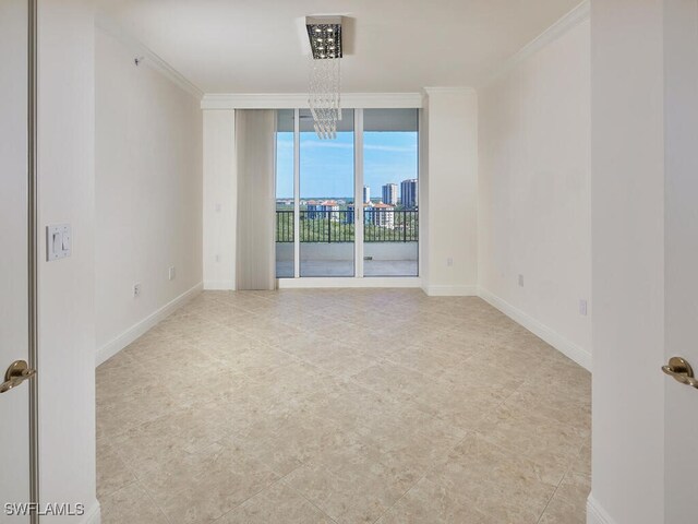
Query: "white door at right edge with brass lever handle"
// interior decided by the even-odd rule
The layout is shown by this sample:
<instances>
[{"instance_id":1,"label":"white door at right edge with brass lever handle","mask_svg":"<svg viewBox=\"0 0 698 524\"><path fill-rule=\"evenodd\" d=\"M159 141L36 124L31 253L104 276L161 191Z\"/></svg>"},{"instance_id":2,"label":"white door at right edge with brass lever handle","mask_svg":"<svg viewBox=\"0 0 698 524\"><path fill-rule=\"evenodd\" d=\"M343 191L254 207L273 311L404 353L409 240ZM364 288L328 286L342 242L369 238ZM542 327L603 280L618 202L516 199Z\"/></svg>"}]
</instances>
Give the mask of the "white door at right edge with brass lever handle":
<instances>
[{"instance_id":1,"label":"white door at right edge with brass lever handle","mask_svg":"<svg viewBox=\"0 0 698 524\"><path fill-rule=\"evenodd\" d=\"M698 0L664 16L665 357L698 376ZM698 389L670 377L664 457L666 524L698 522Z\"/></svg>"}]
</instances>

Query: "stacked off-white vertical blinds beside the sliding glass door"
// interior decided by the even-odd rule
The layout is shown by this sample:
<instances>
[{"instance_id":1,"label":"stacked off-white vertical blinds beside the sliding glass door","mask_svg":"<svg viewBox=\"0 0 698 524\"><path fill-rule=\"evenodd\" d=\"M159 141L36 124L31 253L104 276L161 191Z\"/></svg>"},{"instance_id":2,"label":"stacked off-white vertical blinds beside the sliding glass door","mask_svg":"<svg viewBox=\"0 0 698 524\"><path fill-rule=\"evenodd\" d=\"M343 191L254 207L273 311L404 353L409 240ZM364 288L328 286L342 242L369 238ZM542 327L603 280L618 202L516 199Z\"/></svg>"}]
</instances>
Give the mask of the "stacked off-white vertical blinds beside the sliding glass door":
<instances>
[{"instance_id":1,"label":"stacked off-white vertical blinds beside the sliding glass door","mask_svg":"<svg viewBox=\"0 0 698 524\"><path fill-rule=\"evenodd\" d=\"M276 111L236 110L237 289L275 289Z\"/></svg>"}]
</instances>

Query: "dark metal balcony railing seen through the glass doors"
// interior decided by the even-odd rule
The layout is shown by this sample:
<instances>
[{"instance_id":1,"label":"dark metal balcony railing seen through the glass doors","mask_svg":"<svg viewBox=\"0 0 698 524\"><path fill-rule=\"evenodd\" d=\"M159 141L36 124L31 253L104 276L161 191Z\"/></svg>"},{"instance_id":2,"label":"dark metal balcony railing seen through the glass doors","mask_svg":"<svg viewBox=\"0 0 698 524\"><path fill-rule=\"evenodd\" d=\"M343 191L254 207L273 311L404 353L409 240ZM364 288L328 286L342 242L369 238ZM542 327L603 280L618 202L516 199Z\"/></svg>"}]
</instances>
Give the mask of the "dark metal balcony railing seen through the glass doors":
<instances>
[{"instance_id":1,"label":"dark metal balcony railing seen through the glass doors","mask_svg":"<svg viewBox=\"0 0 698 524\"><path fill-rule=\"evenodd\" d=\"M301 242L353 242L353 211L301 211ZM417 210L364 210L364 242L417 242ZM276 241L293 242L293 211L277 210Z\"/></svg>"}]
</instances>

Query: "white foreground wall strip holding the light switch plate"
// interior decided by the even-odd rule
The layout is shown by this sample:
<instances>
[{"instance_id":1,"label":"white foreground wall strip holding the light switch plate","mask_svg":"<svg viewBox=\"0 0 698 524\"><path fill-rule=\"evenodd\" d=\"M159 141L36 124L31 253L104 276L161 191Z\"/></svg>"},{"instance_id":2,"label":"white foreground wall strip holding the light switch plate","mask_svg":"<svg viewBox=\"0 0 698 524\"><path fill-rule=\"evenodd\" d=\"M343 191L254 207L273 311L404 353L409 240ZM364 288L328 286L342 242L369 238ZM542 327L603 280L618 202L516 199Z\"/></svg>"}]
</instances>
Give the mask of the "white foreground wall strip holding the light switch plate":
<instances>
[{"instance_id":1,"label":"white foreground wall strip holding the light switch plate","mask_svg":"<svg viewBox=\"0 0 698 524\"><path fill-rule=\"evenodd\" d=\"M98 519L94 17L87 0L38 5L39 238L47 224L70 223L73 234L67 259L46 262L45 241L39 242L39 490L43 502L82 502ZM41 517L43 523L81 521Z\"/></svg>"}]
</instances>

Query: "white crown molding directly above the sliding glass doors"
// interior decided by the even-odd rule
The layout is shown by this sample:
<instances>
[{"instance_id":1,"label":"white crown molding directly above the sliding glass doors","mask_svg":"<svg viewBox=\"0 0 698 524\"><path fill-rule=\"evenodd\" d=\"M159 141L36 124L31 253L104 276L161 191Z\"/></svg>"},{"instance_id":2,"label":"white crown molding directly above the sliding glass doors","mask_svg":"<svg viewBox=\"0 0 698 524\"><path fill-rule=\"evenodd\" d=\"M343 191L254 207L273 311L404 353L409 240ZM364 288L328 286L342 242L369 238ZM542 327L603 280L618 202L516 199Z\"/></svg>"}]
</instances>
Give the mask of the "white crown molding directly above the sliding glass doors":
<instances>
[{"instance_id":1,"label":"white crown molding directly above the sliding glass doors","mask_svg":"<svg viewBox=\"0 0 698 524\"><path fill-rule=\"evenodd\" d=\"M356 109L421 108L421 93L342 93L341 106ZM202 109L291 109L308 108L306 93L206 94Z\"/></svg>"}]
</instances>

